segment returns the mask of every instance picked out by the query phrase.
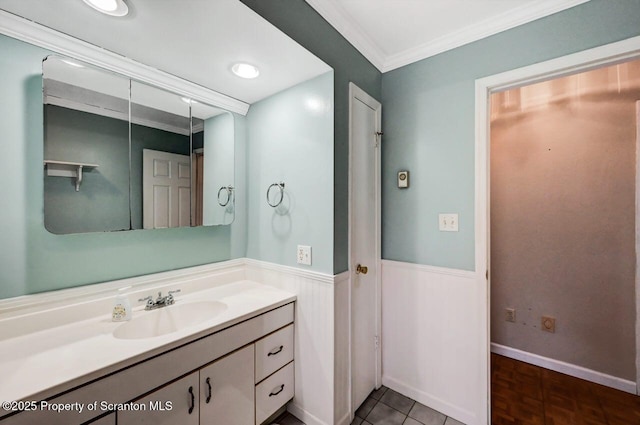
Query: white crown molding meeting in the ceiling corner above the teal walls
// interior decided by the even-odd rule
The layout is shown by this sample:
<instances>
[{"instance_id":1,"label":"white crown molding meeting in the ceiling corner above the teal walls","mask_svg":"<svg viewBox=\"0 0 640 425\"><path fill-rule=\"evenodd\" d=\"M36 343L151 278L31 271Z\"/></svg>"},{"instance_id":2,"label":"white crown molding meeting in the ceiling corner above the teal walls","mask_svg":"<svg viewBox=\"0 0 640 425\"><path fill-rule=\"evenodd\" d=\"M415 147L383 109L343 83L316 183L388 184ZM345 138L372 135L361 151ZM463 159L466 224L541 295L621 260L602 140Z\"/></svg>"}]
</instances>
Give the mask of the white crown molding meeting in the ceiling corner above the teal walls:
<instances>
[{"instance_id":1,"label":"white crown molding meeting in the ceiling corner above the teal walls","mask_svg":"<svg viewBox=\"0 0 640 425\"><path fill-rule=\"evenodd\" d=\"M393 55L384 55L382 49L344 11L336 0L306 1L380 72L384 73L578 6L590 0L539 0Z\"/></svg>"}]
</instances>

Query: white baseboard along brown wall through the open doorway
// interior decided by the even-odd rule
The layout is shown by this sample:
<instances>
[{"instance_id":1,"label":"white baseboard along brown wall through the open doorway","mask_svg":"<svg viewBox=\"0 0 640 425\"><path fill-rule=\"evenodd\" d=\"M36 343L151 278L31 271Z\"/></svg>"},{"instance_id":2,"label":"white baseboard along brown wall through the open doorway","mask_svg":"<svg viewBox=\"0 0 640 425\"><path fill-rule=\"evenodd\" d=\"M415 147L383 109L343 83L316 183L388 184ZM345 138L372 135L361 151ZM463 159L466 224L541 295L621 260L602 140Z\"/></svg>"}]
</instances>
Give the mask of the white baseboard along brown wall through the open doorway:
<instances>
[{"instance_id":1,"label":"white baseboard along brown wall through the open doorway","mask_svg":"<svg viewBox=\"0 0 640 425\"><path fill-rule=\"evenodd\" d=\"M626 379L618 378L606 373L597 372L582 366L576 366L560 360L550 359L538 354L528 353L518 350L517 348L507 347L505 345L491 343L491 352L500 354L510 359L520 360L532 365L540 366L565 375L584 379L585 381L594 382L596 384L605 385L631 394L636 394L636 383Z\"/></svg>"}]
</instances>

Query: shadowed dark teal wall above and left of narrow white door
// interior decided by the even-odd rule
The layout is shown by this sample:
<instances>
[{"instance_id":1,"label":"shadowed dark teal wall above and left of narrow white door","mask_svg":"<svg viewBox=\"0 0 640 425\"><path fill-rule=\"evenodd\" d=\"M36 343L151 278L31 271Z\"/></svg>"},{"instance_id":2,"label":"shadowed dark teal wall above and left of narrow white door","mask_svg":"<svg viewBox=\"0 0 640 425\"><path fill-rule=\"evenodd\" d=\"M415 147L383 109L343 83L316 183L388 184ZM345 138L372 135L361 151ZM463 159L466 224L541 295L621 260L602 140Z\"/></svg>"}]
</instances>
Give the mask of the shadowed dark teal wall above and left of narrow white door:
<instances>
[{"instance_id":1,"label":"shadowed dark teal wall above and left of narrow white door","mask_svg":"<svg viewBox=\"0 0 640 425\"><path fill-rule=\"evenodd\" d=\"M333 68L333 272L343 272L349 265L349 82L380 99L382 75L304 0L241 1Z\"/></svg>"}]
</instances>

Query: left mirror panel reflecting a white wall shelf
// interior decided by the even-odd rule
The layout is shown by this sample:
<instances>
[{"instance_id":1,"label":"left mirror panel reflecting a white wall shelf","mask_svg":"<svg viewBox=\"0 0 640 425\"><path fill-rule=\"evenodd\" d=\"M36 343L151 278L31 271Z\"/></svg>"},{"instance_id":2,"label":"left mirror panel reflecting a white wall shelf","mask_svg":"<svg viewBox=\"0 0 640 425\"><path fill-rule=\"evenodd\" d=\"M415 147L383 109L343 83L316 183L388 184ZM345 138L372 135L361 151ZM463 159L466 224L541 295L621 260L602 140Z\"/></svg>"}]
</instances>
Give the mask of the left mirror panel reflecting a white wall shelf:
<instances>
[{"instance_id":1,"label":"left mirror panel reflecting a white wall shelf","mask_svg":"<svg viewBox=\"0 0 640 425\"><path fill-rule=\"evenodd\" d=\"M43 61L44 223L52 233L128 230L129 79Z\"/></svg>"}]
</instances>

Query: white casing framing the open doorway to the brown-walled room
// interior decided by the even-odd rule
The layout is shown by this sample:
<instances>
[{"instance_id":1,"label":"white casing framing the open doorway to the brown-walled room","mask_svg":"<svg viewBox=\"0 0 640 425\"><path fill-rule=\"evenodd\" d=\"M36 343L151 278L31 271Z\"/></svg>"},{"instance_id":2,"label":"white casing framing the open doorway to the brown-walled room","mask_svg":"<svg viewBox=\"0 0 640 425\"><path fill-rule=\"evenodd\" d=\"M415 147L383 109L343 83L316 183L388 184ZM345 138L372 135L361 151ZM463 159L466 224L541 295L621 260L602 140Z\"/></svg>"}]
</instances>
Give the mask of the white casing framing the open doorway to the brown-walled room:
<instances>
[{"instance_id":1,"label":"white casing framing the open doorway to the brown-walled room","mask_svg":"<svg viewBox=\"0 0 640 425\"><path fill-rule=\"evenodd\" d=\"M490 238L489 238L489 164L490 164L490 108L489 98L493 92L522 87L528 84L559 78L577 72L588 71L606 65L640 58L640 37L607 44L584 50L546 62L540 62L523 68L476 80L476 117L475 117L475 274L479 287L478 306L480 310L480 327L483 358L478 359L482 387L478 388L478 412L480 418L491 423L491 382L490 382ZM636 293L640 291L640 277L636 276ZM640 297L637 295L637 297ZM640 302L636 302L636 314L640 318ZM636 320L636 334L640 323ZM640 338L636 338L636 346L640 347ZM636 350L636 364L640 365L640 348ZM640 374L638 377L640 383Z\"/></svg>"}]
</instances>

